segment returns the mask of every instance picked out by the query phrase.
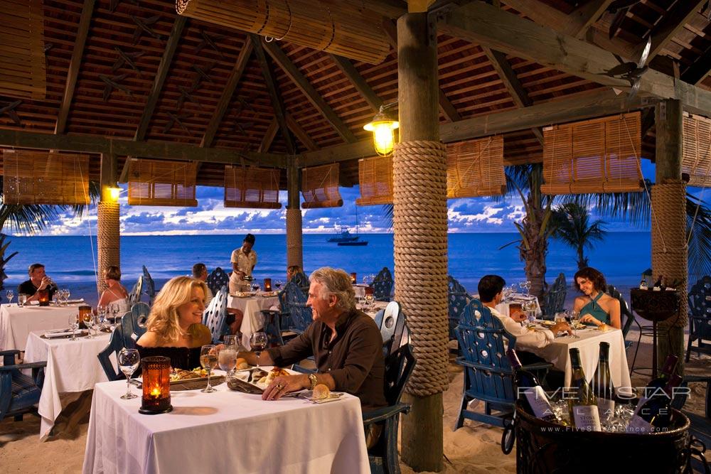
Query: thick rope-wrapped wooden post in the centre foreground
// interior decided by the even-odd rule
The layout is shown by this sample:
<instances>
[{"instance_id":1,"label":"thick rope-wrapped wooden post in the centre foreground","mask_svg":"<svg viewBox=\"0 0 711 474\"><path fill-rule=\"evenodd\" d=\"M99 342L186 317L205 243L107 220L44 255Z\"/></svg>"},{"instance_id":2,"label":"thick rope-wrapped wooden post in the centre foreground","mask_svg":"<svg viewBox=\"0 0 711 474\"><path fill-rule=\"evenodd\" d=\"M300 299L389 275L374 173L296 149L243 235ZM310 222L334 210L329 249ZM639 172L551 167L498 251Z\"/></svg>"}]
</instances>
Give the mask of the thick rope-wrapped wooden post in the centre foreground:
<instances>
[{"instance_id":1,"label":"thick rope-wrapped wooden post in the centre foreground","mask_svg":"<svg viewBox=\"0 0 711 474\"><path fill-rule=\"evenodd\" d=\"M429 378L432 367L447 373L447 167L444 151L436 151L433 159L419 154L433 142L439 144L437 35L429 28L435 26L428 25L424 13L405 14L397 20L400 144L393 156L395 299L410 321L418 358L405 394L412 411L402 416L401 458L416 472L444 469L443 388L422 389L419 382ZM415 264L418 256L419 264ZM423 268L432 283L427 298L417 290ZM443 331L441 351L427 347L425 341L433 325L442 326L434 328Z\"/></svg>"}]
</instances>

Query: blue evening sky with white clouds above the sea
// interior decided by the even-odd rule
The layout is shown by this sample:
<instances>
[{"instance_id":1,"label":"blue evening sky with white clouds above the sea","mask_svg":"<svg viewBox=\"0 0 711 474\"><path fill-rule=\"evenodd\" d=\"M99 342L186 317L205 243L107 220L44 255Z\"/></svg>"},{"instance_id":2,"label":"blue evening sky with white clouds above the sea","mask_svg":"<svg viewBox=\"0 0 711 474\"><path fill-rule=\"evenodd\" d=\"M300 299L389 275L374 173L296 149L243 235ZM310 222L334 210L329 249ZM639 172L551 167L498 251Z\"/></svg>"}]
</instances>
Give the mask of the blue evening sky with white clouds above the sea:
<instances>
[{"instance_id":1,"label":"blue evening sky with white clouds above the sea","mask_svg":"<svg viewBox=\"0 0 711 474\"><path fill-rule=\"evenodd\" d=\"M653 180L654 166L643 160L643 174ZM700 195L700 190L692 190ZM198 207L174 208L155 206L129 206L127 192L122 185L119 198L121 205L122 235L186 235L186 234L262 234L284 233L286 229L284 205L286 192L279 195L282 209L250 210L225 208L223 188L200 186L197 189ZM330 233L336 226L355 231L355 199L360 195L358 187L341 188L343 207L303 210L303 229L309 233ZM704 196L705 201L709 201ZM600 217L591 209L595 217ZM464 198L448 202L449 232L515 232L513 222L523 217L520 198ZM626 222L602 217L610 231L646 230L647 227L630 227ZM390 232L383 206L358 207L359 230L363 233ZM43 235L89 235L95 234L96 210L81 218L69 213L58 222L53 222Z\"/></svg>"}]
</instances>

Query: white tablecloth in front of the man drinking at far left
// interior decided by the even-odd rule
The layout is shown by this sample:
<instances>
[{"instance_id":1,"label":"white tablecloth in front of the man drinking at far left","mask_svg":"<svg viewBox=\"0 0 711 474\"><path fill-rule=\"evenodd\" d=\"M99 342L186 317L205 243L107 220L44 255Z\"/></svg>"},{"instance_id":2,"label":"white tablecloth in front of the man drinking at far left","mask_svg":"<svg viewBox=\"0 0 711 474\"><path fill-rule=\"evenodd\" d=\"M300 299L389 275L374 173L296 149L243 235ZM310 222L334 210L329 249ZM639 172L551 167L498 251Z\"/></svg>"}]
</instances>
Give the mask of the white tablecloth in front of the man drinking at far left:
<instances>
[{"instance_id":1,"label":"white tablecloth in front of the man drinking at far left","mask_svg":"<svg viewBox=\"0 0 711 474\"><path fill-rule=\"evenodd\" d=\"M27 336L34 330L69 327L69 316L79 314L78 305L0 306L0 350L25 350Z\"/></svg>"}]
</instances>

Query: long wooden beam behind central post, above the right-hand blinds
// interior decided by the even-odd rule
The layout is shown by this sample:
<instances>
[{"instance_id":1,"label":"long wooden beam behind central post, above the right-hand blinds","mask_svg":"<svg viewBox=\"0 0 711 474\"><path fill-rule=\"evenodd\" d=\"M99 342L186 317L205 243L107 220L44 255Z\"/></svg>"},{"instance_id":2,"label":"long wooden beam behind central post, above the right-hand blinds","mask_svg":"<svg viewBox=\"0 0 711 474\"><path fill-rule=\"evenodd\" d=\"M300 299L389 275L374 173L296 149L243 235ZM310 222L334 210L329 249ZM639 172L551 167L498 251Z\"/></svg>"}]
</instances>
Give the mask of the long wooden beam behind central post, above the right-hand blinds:
<instances>
[{"instance_id":1,"label":"long wooden beam behind central post, above the right-hand blinds","mask_svg":"<svg viewBox=\"0 0 711 474\"><path fill-rule=\"evenodd\" d=\"M444 143L476 139L530 129L534 126L561 124L629 112L643 107L653 107L655 103L656 100L653 99L636 97L631 104L628 104L625 97L618 97L611 90L594 91L571 99L532 105L525 109L506 110L488 114L486 117L471 117L454 124L441 124L439 138ZM301 153L299 166L317 166L369 156L375 156L373 141L363 140L356 144L331 146L319 151ZM505 164L510 163L505 161Z\"/></svg>"}]
</instances>

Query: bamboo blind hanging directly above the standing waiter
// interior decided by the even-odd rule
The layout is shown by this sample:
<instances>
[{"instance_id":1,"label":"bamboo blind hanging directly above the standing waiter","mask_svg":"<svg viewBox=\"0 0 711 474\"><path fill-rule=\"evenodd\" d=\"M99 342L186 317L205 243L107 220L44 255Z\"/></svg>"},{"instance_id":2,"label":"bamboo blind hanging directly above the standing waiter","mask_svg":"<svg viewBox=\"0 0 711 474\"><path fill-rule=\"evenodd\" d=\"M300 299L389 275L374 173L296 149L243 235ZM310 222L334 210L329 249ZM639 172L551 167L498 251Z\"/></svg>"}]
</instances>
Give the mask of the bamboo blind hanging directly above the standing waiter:
<instances>
[{"instance_id":1,"label":"bamboo blind hanging directly above the standing waiter","mask_svg":"<svg viewBox=\"0 0 711 474\"><path fill-rule=\"evenodd\" d=\"M225 208L279 209L281 171L225 166Z\"/></svg>"}]
</instances>

